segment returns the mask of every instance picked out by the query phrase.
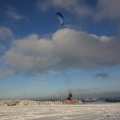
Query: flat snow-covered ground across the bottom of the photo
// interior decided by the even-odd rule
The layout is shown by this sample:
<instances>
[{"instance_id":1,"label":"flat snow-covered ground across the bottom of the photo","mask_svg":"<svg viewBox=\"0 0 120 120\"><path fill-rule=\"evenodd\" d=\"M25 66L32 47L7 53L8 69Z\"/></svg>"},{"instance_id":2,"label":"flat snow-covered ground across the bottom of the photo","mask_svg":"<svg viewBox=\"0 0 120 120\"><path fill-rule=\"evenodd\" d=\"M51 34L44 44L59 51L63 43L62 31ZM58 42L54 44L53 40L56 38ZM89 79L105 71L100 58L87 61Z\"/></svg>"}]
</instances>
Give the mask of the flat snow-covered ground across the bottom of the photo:
<instances>
[{"instance_id":1,"label":"flat snow-covered ground across the bottom of the photo","mask_svg":"<svg viewBox=\"0 0 120 120\"><path fill-rule=\"evenodd\" d=\"M120 120L120 103L0 106L0 120Z\"/></svg>"}]
</instances>

